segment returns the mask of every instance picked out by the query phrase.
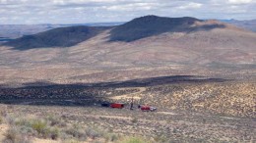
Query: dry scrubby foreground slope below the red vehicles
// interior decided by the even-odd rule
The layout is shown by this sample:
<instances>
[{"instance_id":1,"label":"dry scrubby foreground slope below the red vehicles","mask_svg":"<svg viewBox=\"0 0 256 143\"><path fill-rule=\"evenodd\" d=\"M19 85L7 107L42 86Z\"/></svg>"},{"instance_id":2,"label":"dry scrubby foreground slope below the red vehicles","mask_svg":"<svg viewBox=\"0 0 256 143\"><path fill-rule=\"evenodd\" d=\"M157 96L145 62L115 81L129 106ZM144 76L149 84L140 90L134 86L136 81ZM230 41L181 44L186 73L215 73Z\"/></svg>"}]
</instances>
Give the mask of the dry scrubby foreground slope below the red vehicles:
<instances>
[{"instance_id":1,"label":"dry scrubby foreground slope below the red vehicles","mask_svg":"<svg viewBox=\"0 0 256 143\"><path fill-rule=\"evenodd\" d=\"M132 136L149 143L244 142L254 141L256 127L253 119L185 111L171 111L175 114L169 115L98 107L16 105L12 109L4 122L17 128L19 134L57 142L119 143L130 141ZM24 118L14 116L19 114Z\"/></svg>"}]
</instances>

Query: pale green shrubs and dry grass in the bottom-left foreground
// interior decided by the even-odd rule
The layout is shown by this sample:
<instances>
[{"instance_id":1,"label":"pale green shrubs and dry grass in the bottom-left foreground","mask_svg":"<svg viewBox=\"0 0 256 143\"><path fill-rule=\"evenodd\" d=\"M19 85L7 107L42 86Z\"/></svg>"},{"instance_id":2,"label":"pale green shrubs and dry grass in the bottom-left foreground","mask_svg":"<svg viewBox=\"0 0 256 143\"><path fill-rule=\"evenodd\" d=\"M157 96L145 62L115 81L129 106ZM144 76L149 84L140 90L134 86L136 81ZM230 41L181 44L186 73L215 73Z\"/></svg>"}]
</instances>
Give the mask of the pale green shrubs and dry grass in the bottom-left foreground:
<instances>
[{"instance_id":1,"label":"pale green shrubs and dry grass in the bottom-left foreground","mask_svg":"<svg viewBox=\"0 0 256 143\"><path fill-rule=\"evenodd\" d=\"M56 120L60 119L60 120ZM4 133L4 143L32 143L32 138L51 139L58 142L120 142L123 135L107 132L100 126L64 123L60 117L23 117L8 115L5 119L9 129ZM1 132L0 132L1 133Z\"/></svg>"}]
</instances>

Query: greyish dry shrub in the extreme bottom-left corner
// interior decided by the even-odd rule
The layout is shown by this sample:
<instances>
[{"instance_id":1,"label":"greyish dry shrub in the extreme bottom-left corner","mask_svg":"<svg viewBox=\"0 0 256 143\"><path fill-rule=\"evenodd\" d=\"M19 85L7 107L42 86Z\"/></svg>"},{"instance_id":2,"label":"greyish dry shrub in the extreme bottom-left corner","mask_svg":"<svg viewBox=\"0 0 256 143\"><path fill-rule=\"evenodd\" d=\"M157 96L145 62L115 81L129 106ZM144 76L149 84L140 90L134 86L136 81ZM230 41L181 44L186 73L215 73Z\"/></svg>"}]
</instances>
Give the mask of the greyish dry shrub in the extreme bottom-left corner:
<instances>
[{"instance_id":1,"label":"greyish dry shrub in the extreme bottom-left corner","mask_svg":"<svg viewBox=\"0 0 256 143\"><path fill-rule=\"evenodd\" d=\"M3 143L32 143L31 139L19 132L18 128L10 127L4 134Z\"/></svg>"}]
</instances>

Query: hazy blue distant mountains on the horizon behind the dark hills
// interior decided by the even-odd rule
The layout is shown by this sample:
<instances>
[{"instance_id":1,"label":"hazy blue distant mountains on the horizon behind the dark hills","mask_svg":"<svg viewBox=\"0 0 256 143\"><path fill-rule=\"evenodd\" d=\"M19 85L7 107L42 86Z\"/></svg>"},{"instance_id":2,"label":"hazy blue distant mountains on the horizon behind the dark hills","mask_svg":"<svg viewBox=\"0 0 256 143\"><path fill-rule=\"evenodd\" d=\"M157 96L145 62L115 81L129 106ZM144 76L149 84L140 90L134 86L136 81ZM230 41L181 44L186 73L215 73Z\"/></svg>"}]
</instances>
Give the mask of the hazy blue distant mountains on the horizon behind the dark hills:
<instances>
[{"instance_id":1,"label":"hazy blue distant mountains on the horizon behind the dark hills","mask_svg":"<svg viewBox=\"0 0 256 143\"><path fill-rule=\"evenodd\" d=\"M151 18L153 19L153 18ZM242 27L248 30L256 32L256 20L238 21L238 20L220 20L227 24L234 24L238 27ZM76 26L76 25L87 25L87 26L114 26L125 24L124 22L113 22L113 23L90 23L90 24L0 24L0 43L10 41L15 38L22 37L24 35L31 35L38 32L46 31L57 27ZM166 24L167 25L167 24ZM129 26L126 24L126 26ZM171 24L169 24L171 26ZM128 27L126 27L128 28ZM154 25L152 25L154 28ZM163 28L163 27L162 27ZM167 27L168 28L168 27ZM118 29L116 29L118 30ZM114 31L113 31L114 32ZM118 32L118 31L117 31ZM119 35L121 36L121 35ZM117 37L112 37L114 40ZM121 38L121 37L118 37Z\"/></svg>"}]
</instances>

